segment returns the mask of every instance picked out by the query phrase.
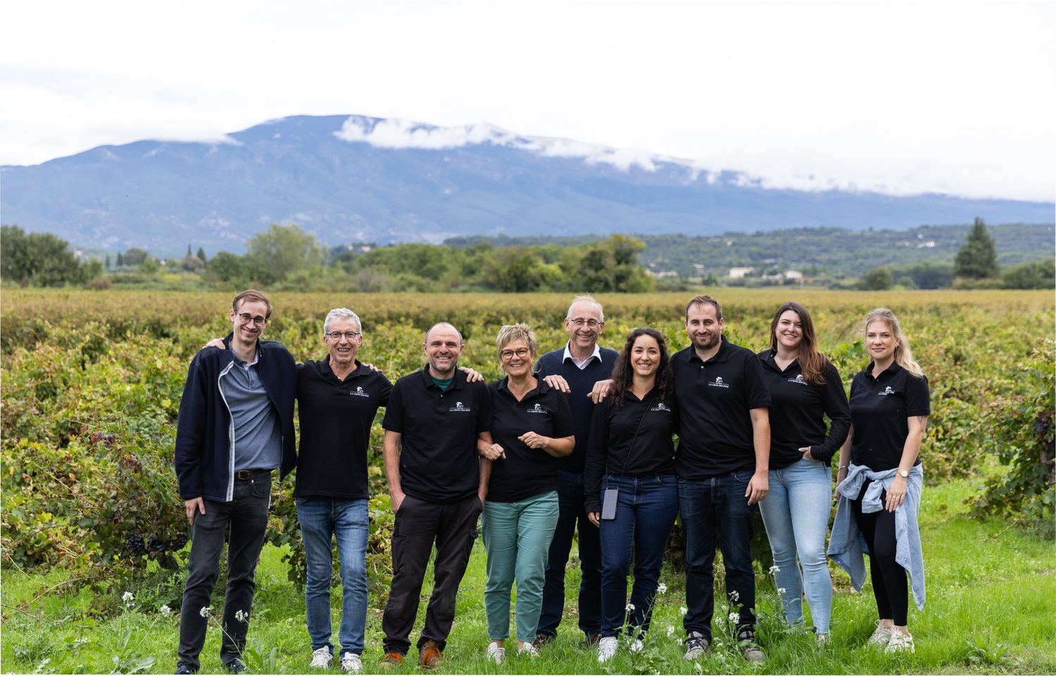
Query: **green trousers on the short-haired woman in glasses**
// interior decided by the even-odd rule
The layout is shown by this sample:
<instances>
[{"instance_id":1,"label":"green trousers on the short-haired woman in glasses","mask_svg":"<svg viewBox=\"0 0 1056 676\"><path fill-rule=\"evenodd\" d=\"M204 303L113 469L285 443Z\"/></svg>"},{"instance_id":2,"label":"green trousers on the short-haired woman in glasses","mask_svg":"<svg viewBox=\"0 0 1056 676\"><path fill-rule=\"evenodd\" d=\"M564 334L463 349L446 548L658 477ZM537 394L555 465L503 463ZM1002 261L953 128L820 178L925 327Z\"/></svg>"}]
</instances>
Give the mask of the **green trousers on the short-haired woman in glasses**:
<instances>
[{"instance_id":1,"label":"green trousers on the short-haired woman in glasses","mask_svg":"<svg viewBox=\"0 0 1056 676\"><path fill-rule=\"evenodd\" d=\"M484 503L480 519L488 552L488 585L484 606L488 638L510 636L510 588L517 583L517 640L531 643L543 607L546 558L558 525L558 491L513 503Z\"/></svg>"}]
</instances>

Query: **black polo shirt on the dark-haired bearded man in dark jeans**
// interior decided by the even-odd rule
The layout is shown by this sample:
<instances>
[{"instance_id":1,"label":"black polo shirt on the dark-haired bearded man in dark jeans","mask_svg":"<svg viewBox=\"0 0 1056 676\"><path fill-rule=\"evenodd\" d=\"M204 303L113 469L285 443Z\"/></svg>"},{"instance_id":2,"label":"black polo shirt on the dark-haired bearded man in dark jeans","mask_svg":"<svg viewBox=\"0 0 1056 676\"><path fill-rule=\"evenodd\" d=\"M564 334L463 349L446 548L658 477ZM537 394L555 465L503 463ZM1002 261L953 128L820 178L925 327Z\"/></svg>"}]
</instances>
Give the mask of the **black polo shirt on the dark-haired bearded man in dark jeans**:
<instances>
[{"instance_id":1,"label":"black polo shirt on the dark-haired bearded man in dark jeans","mask_svg":"<svg viewBox=\"0 0 1056 676\"><path fill-rule=\"evenodd\" d=\"M671 358L678 402L679 478L701 481L755 470L752 409L770 407L762 367L751 350L722 336L706 362L690 345Z\"/></svg>"}]
</instances>

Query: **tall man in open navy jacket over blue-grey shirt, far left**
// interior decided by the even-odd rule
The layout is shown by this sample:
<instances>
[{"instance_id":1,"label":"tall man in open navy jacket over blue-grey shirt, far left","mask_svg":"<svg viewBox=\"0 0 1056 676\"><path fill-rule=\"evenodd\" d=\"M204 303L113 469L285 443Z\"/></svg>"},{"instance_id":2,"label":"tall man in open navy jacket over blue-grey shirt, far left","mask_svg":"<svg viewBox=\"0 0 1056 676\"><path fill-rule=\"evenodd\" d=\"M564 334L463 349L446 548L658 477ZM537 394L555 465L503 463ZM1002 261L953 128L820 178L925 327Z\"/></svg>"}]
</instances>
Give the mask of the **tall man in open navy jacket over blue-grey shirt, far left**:
<instances>
[{"instance_id":1,"label":"tall man in open navy jacket over blue-grey shirt, far left","mask_svg":"<svg viewBox=\"0 0 1056 676\"><path fill-rule=\"evenodd\" d=\"M267 528L271 471L297 464L294 396L297 364L281 344L260 340L271 303L256 290L234 297L226 350L191 360L180 402L175 467L191 524L187 586L180 616L177 674L196 673L209 597L230 524L220 657L232 673L241 660L253 602L253 574Z\"/></svg>"}]
</instances>

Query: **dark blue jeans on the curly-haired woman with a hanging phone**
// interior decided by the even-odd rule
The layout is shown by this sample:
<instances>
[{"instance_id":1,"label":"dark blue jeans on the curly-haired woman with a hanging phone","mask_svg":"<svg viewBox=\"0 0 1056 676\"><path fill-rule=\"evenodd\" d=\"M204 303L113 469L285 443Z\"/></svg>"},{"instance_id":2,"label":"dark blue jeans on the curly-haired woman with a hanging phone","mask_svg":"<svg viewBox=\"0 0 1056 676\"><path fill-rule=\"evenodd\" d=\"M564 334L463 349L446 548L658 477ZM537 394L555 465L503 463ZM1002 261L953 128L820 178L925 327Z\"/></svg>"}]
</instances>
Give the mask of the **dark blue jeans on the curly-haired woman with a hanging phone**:
<instances>
[{"instance_id":1,"label":"dark blue jeans on the curly-haired woman with a hanging phone","mask_svg":"<svg viewBox=\"0 0 1056 676\"><path fill-rule=\"evenodd\" d=\"M678 481L665 476L605 476L618 488L616 519L601 522L601 635L617 636L626 618L629 627L649 628L663 552L678 515ZM635 584L627 602L627 574L635 562Z\"/></svg>"}]
</instances>

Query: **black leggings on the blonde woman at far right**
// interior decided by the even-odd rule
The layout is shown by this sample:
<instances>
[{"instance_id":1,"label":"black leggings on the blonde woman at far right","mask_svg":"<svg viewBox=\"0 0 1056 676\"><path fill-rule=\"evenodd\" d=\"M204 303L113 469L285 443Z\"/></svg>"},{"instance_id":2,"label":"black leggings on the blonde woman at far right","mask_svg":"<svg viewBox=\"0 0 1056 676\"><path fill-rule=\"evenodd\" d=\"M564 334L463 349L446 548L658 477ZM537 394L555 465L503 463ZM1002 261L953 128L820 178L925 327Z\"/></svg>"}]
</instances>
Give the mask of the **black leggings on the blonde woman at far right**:
<instances>
[{"instance_id":1,"label":"black leggings on the blonde woman at far right","mask_svg":"<svg viewBox=\"0 0 1056 676\"><path fill-rule=\"evenodd\" d=\"M869 574L872 594L876 597L876 611L881 619L891 618L897 626L905 626L909 588L906 569L894 560L894 512L881 509L871 514L862 513L862 497L868 485L869 482L866 482L859 499L851 501L851 509L869 547ZM886 500L887 491L881 491L880 503L883 505Z\"/></svg>"}]
</instances>

